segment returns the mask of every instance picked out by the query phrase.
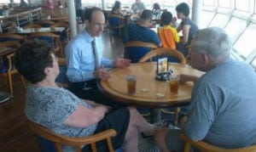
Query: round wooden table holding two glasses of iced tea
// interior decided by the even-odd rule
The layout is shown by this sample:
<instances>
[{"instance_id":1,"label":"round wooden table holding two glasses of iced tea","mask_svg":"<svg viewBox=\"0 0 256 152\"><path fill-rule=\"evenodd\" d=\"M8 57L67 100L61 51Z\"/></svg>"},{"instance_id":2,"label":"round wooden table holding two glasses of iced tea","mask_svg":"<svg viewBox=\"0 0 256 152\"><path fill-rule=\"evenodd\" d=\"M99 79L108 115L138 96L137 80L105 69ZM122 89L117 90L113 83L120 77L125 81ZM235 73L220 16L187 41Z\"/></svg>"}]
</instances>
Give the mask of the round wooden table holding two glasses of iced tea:
<instances>
[{"instance_id":1,"label":"round wooden table holding two glasses of iced tea","mask_svg":"<svg viewBox=\"0 0 256 152\"><path fill-rule=\"evenodd\" d=\"M192 69L189 65L169 63L169 70L175 74L201 76L203 72ZM127 68L109 70L111 78L100 81L99 88L110 99L124 104L131 104L153 109L177 107L189 104L193 82L180 84L177 93L171 93L169 82L155 80L156 62L131 64ZM136 93L127 92L125 76L137 76ZM160 116L159 111L156 115ZM156 120L159 120L157 118Z\"/></svg>"}]
</instances>

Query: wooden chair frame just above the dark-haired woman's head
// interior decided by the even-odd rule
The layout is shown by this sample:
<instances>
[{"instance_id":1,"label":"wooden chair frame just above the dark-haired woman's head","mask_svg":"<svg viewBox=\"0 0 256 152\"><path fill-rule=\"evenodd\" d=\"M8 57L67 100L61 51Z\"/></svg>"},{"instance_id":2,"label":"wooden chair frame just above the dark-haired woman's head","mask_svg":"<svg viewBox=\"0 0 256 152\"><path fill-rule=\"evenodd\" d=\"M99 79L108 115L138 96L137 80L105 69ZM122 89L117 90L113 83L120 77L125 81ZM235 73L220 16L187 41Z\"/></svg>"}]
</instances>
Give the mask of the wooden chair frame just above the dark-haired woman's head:
<instances>
[{"instance_id":1,"label":"wooden chair frame just above the dark-haired woman's head","mask_svg":"<svg viewBox=\"0 0 256 152\"><path fill-rule=\"evenodd\" d=\"M61 57L64 57L61 39L60 39L59 35L56 35L56 34L50 33L50 32L36 32L36 33L32 33L30 35L30 38L32 38L32 39L38 38L40 40L48 42L49 45L51 45L51 47L54 49L55 52L60 51Z\"/></svg>"}]
</instances>

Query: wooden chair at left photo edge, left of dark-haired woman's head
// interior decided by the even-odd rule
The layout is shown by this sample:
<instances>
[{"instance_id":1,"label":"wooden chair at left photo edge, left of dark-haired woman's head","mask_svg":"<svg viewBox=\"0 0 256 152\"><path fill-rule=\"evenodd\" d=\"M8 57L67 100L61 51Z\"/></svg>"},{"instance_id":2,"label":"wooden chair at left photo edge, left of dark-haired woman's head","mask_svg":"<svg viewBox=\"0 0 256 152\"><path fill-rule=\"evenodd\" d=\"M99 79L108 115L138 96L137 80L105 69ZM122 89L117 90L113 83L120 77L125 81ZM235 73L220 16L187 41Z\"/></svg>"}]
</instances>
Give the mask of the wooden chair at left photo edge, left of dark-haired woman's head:
<instances>
[{"instance_id":1,"label":"wooden chair at left photo edge, left of dark-haired woman's head","mask_svg":"<svg viewBox=\"0 0 256 152\"><path fill-rule=\"evenodd\" d=\"M0 42L0 47L19 48L20 43L16 41ZM13 64L14 56L15 56L15 53L10 53L9 55L6 56L7 70L0 72L0 76L5 77L5 83L9 87L9 92L11 93L12 97L14 97L12 76L16 73L19 73L18 70L15 69L15 65ZM26 82L23 76L20 75L20 78L21 78L21 81L23 82L24 87L26 87Z\"/></svg>"}]
</instances>

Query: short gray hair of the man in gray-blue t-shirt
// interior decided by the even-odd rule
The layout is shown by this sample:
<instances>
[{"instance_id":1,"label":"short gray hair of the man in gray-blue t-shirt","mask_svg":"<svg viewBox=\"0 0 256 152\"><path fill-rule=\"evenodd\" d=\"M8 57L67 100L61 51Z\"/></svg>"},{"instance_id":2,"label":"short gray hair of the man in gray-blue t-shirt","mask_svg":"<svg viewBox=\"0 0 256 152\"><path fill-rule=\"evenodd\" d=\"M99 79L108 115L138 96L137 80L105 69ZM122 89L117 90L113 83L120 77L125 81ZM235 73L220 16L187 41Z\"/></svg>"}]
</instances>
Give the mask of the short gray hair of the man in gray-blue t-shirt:
<instances>
[{"instance_id":1,"label":"short gray hair of the man in gray-blue t-shirt","mask_svg":"<svg viewBox=\"0 0 256 152\"><path fill-rule=\"evenodd\" d=\"M232 42L224 29L209 27L195 33L191 42L191 49L204 51L212 58L227 58L232 50Z\"/></svg>"}]
</instances>

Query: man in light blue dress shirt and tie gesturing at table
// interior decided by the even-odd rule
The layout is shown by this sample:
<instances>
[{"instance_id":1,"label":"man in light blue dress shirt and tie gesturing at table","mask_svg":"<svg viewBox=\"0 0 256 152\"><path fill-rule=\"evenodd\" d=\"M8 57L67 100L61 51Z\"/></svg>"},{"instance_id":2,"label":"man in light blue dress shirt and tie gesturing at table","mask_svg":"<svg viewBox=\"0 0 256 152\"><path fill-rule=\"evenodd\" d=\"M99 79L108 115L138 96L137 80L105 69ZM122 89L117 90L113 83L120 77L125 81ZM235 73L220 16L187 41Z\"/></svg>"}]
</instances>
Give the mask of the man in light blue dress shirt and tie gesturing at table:
<instances>
[{"instance_id":1,"label":"man in light blue dress shirt and tie gesturing at table","mask_svg":"<svg viewBox=\"0 0 256 152\"><path fill-rule=\"evenodd\" d=\"M79 98L90 99L112 107L118 103L107 99L98 90L96 82L99 79L108 80L110 74L103 68L125 68L130 66L130 59L115 60L102 57L102 31L105 18L100 8L88 8L84 12L85 29L67 43L65 48L67 60L67 78L70 91Z\"/></svg>"}]
</instances>

